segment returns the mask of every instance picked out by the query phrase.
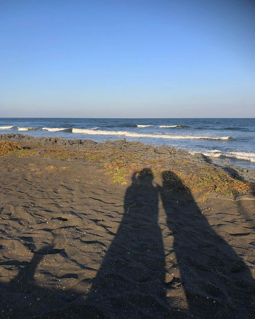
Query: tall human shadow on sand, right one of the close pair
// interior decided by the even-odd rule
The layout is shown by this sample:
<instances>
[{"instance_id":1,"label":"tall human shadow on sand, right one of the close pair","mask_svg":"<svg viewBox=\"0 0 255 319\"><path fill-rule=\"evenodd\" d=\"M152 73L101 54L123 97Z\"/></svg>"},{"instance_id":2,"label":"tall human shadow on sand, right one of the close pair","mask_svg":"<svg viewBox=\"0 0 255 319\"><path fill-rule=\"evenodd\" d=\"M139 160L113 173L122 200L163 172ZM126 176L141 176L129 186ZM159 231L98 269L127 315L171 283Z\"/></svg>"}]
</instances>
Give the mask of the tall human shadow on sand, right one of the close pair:
<instances>
[{"instance_id":1,"label":"tall human shadow on sand, right one of the close pair","mask_svg":"<svg viewBox=\"0 0 255 319\"><path fill-rule=\"evenodd\" d=\"M212 229L190 191L178 191L178 183L184 188L179 178L166 171L162 179L161 198L190 314L199 318L254 318L250 270ZM173 187L170 196L166 190Z\"/></svg>"}]
</instances>

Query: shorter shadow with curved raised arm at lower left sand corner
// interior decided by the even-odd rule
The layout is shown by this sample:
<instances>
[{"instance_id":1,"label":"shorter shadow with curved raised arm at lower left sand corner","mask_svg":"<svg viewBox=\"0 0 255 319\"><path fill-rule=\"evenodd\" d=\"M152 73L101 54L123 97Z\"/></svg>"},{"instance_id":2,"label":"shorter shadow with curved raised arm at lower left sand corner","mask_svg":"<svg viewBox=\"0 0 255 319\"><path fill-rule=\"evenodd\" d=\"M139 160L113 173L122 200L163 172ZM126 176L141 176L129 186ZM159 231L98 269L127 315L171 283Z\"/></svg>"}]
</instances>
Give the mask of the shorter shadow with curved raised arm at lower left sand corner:
<instances>
[{"instance_id":1,"label":"shorter shadow with curved raised arm at lower left sand corner","mask_svg":"<svg viewBox=\"0 0 255 319\"><path fill-rule=\"evenodd\" d=\"M61 246L63 248L57 248ZM3 318L37 318L37 315L39 318L45 310L52 309L58 304L67 304L70 301L70 293L58 289L54 282L50 288L45 288L35 278L38 265L48 255L61 254L63 257L68 257L65 253L62 234L54 234L52 242L32 251L33 258L30 262L23 263L25 267L19 267L18 275L8 283L1 283L0 296L4 298L0 303L3 309L0 318L3 313ZM16 264L20 266L19 262ZM43 302L39 302L40 300ZM46 317L62 318L57 315L43 315L43 318Z\"/></svg>"}]
</instances>

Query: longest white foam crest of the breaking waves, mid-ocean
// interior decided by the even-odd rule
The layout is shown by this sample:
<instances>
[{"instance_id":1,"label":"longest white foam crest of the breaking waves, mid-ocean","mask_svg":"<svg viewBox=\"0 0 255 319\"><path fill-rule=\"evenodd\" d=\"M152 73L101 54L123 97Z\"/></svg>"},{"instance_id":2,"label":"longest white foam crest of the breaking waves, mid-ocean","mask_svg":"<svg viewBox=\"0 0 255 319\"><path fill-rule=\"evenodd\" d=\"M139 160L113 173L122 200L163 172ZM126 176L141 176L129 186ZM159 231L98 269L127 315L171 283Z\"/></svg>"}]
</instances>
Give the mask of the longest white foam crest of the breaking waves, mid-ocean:
<instances>
[{"instance_id":1,"label":"longest white foam crest of the breaking waves, mid-ocean","mask_svg":"<svg viewBox=\"0 0 255 319\"><path fill-rule=\"evenodd\" d=\"M84 130L84 129L73 129L73 133L84 133L84 134L99 134L99 135L125 135L129 137L152 137L152 138L175 138L175 139L213 139L213 140L227 140L229 136L222 137L209 137L209 136L180 136L180 135L164 135L164 134L140 134L131 133L127 131L102 131L102 130Z\"/></svg>"}]
</instances>

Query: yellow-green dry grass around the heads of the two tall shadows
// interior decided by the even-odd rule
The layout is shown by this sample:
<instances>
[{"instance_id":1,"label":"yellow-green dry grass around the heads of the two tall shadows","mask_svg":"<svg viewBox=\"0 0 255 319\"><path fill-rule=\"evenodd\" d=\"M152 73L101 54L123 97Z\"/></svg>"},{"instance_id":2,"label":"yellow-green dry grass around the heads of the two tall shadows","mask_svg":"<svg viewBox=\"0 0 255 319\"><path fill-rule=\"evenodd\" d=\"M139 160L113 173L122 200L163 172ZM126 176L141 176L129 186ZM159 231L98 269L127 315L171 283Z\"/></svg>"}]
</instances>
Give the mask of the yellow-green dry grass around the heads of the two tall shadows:
<instances>
[{"instance_id":1,"label":"yellow-green dry grass around the heads of the two tall shadows","mask_svg":"<svg viewBox=\"0 0 255 319\"><path fill-rule=\"evenodd\" d=\"M185 175L181 172L162 169L156 165L144 164L122 159L104 163L103 166L107 170L105 174L112 178L113 183L119 183L120 185L127 184L126 177L136 173L137 176L144 174L160 175L162 181L171 184L173 189L186 189L186 191L194 192L204 191L204 197L210 192L232 196L237 193L247 194L255 190L254 184L237 180L223 170L216 171L213 167L205 167L198 174Z\"/></svg>"}]
</instances>

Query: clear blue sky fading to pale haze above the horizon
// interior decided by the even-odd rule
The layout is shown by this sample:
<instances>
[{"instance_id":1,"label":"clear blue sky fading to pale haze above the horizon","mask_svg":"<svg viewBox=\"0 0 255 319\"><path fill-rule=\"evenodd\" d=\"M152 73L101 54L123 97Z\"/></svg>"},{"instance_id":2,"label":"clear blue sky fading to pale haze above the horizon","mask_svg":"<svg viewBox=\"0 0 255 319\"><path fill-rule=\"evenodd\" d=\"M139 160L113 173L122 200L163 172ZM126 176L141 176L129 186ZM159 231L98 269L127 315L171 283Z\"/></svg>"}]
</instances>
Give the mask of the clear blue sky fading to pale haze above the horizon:
<instances>
[{"instance_id":1,"label":"clear blue sky fading to pale haze above the horizon","mask_svg":"<svg viewBox=\"0 0 255 319\"><path fill-rule=\"evenodd\" d=\"M255 117L254 0L2 0L0 117Z\"/></svg>"}]
</instances>

